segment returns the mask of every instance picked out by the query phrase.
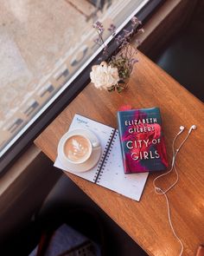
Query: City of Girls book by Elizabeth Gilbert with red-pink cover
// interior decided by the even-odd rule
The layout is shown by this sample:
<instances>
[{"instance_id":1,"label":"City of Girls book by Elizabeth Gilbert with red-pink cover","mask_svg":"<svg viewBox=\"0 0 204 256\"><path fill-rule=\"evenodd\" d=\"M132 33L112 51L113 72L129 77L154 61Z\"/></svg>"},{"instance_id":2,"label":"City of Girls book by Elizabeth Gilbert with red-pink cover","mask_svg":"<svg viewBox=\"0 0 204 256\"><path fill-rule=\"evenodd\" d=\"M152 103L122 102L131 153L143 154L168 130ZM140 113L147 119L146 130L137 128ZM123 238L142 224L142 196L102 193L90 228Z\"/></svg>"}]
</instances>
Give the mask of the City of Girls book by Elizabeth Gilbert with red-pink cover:
<instances>
[{"instance_id":1,"label":"City of Girls book by Elizabeth Gilbert with red-pink cover","mask_svg":"<svg viewBox=\"0 0 204 256\"><path fill-rule=\"evenodd\" d=\"M159 108L118 111L118 130L125 174L168 167Z\"/></svg>"}]
</instances>

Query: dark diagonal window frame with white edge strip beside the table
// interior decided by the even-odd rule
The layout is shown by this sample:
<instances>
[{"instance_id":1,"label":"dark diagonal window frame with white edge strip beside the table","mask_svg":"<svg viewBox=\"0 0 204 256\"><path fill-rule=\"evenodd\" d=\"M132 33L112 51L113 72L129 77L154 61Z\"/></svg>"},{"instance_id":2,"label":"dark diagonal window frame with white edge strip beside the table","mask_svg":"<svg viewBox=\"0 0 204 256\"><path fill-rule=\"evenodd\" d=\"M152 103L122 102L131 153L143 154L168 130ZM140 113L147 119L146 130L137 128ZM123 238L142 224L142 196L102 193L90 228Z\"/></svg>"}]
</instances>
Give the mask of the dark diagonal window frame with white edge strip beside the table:
<instances>
[{"instance_id":1,"label":"dark diagonal window frame with white edge strip beside the table","mask_svg":"<svg viewBox=\"0 0 204 256\"><path fill-rule=\"evenodd\" d=\"M132 16L137 16L142 23L145 23L151 16L151 14L164 2L164 0L144 0L142 9L138 10L138 7L132 13ZM141 8L141 7L140 7ZM124 29L131 28L131 17L127 18L124 23L118 28L118 35L123 34ZM112 54L118 48L118 45L111 40L111 36L105 41L109 47L109 54ZM71 78L72 82L68 81L67 86L63 87L60 92L43 107L42 110L36 115L35 121L27 128L22 135L13 142L12 146L8 148L0 158L0 175L4 174L6 170L16 161L16 159L23 154L33 143L35 138L41 134L41 131L45 129L48 124L54 120L54 118L61 113L61 111L67 107L67 105L73 101L73 99L82 91L86 85L90 82L89 74L92 69L92 64L97 63L99 56L102 55L102 47L100 47L90 59L82 65L77 74L74 74ZM85 67L86 66L86 67Z\"/></svg>"}]
</instances>

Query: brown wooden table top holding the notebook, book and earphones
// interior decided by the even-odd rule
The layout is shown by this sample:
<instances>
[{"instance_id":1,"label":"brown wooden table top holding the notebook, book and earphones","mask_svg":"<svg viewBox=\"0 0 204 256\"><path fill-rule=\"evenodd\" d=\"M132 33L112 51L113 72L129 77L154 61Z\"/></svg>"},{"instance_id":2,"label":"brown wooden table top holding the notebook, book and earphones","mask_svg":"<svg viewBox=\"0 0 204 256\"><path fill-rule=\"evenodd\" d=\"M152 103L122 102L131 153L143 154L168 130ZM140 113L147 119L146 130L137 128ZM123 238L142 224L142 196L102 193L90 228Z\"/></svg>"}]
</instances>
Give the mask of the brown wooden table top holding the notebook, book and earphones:
<instances>
[{"instance_id":1,"label":"brown wooden table top holding the notebook, book and earphones","mask_svg":"<svg viewBox=\"0 0 204 256\"><path fill-rule=\"evenodd\" d=\"M75 113L116 127L116 111L121 105L131 104L133 108L157 106L162 112L170 161L171 143L179 127L185 126L187 135L188 128L196 124L198 128L190 135L177 157L180 180L169 192L173 224L184 243L183 255L192 256L196 248L204 243L203 104L146 56L139 53L138 58L129 89L118 95L94 89L89 84L41 133L35 144L54 161L57 144L61 135L67 132ZM185 135L178 138L177 145ZM154 192L152 181L155 174L150 174L140 202L73 174L67 175L147 253L156 256L179 254L180 245L169 227L165 198ZM169 187L174 179L175 174L170 174L159 185Z\"/></svg>"}]
</instances>

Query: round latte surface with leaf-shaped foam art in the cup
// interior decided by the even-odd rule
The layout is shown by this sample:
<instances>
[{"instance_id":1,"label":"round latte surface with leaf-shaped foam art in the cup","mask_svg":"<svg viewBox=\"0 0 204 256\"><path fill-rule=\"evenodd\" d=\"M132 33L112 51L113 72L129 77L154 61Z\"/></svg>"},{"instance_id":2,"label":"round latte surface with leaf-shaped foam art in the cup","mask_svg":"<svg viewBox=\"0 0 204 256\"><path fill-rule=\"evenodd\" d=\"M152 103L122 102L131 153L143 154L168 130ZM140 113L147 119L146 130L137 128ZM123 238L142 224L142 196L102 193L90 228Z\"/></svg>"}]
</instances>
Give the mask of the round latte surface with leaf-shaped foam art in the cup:
<instances>
[{"instance_id":1,"label":"round latte surface with leaf-shaped foam art in the cup","mask_svg":"<svg viewBox=\"0 0 204 256\"><path fill-rule=\"evenodd\" d=\"M67 158L73 162L85 161L90 154L90 142L82 135L73 135L68 138L64 146Z\"/></svg>"}]
</instances>

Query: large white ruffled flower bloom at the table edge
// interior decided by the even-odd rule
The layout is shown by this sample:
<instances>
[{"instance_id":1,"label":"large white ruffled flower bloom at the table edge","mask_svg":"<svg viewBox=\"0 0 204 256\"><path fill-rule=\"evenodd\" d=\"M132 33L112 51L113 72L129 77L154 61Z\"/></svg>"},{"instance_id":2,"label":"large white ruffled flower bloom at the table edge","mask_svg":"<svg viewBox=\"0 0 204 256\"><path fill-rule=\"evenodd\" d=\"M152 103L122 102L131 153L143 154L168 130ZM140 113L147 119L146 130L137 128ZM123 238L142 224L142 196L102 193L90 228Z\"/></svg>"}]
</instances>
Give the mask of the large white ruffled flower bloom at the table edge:
<instances>
[{"instance_id":1,"label":"large white ruffled flower bloom at the table edge","mask_svg":"<svg viewBox=\"0 0 204 256\"><path fill-rule=\"evenodd\" d=\"M106 62L101 62L100 65L92 66L90 78L96 88L108 89L118 83L118 69L108 66Z\"/></svg>"}]
</instances>

